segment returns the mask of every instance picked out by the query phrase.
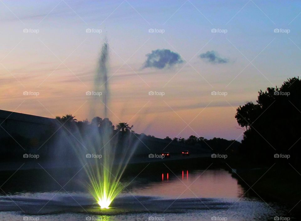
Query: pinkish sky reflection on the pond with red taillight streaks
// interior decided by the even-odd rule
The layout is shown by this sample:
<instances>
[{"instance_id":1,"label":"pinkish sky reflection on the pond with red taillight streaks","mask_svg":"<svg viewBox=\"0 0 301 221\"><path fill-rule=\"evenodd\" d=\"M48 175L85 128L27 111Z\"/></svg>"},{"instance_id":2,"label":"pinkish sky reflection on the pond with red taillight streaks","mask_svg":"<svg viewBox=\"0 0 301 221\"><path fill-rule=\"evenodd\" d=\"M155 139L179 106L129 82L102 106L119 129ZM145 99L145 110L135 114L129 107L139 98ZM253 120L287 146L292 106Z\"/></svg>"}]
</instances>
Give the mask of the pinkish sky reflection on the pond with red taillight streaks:
<instances>
[{"instance_id":1,"label":"pinkish sky reflection on the pond with red taillight streaks","mask_svg":"<svg viewBox=\"0 0 301 221\"><path fill-rule=\"evenodd\" d=\"M145 196L174 197L179 196L185 188L183 182L199 198L235 198L241 197L244 193L238 181L228 171L223 170L187 170L173 171L174 176L170 177L170 171L157 174L157 181L150 182L148 188L137 187L135 194ZM182 173L182 174L181 174ZM182 180L181 180L182 175ZM185 181L184 181L185 179ZM160 182L161 181L161 182ZM195 195L186 190L181 198L194 198Z\"/></svg>"}]
</instances>

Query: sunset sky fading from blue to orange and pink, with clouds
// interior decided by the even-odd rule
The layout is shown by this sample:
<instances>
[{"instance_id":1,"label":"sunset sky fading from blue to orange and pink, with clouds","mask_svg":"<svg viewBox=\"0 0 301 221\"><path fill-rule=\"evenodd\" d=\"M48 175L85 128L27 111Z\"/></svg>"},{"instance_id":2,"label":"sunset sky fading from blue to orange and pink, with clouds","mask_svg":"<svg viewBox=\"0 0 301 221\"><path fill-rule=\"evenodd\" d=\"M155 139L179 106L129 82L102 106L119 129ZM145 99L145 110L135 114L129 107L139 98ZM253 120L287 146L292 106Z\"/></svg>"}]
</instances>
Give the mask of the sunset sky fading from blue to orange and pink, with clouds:
<instances>
[{"instance_id":1,"label":"sunset sky fading from blue to orange and pink, with clouds","mask_svg":"<svg viewBox=\"0 0 301 221\"><path fill-rule=\"evenodd\" d=\"M1 0L0 109L91 120L107 38L114 124L240 141L235 109L300 75L300 13L298 1Z\"/></svg>"}]
</instances>

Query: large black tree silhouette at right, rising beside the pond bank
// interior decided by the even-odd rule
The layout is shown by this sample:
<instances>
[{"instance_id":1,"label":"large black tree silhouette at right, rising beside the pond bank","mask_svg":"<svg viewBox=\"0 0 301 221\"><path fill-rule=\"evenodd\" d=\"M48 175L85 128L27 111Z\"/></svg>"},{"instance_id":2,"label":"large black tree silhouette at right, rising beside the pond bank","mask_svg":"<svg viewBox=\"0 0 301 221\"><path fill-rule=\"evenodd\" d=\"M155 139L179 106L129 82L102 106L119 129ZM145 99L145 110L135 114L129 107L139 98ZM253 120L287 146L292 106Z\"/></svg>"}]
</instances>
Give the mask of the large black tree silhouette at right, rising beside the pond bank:
<instances>
[{"instance_id":1,"label":"large black tree silhouette at right, rising beside the pond bank","mask_svg":"<svg viewBox=\"0 0 301 221\"><path fill-rule=\"evenodd\" d=\"M239 106L235 118L246 128L242 151L257 162L275 161L274 154L290 154L282 162L296 163L301 144L301 81L288 79L280 88L260 90L257 104Z\"/></svg>"}]
</instances>

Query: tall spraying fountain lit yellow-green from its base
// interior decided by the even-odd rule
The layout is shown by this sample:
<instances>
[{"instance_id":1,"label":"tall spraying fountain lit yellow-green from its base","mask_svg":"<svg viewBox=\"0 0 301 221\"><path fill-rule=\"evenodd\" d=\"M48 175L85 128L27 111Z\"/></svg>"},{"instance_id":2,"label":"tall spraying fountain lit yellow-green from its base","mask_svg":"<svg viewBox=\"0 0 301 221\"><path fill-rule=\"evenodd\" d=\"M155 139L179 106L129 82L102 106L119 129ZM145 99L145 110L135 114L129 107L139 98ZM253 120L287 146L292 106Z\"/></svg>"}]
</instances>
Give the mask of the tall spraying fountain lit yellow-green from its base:
<instances>
[{"instance_id":1,"label":"tall spraying fountain lit yellow-green from its base","mask_svg":"<svg viewBox=\"0 0 301 221\"><path fill-rule=\"evenodd\" d=\"M87 177L87 189L101 209L110 208L110 204L126 187L120 179L137 146L137 140L132 139L129 131L116 131L108 120L108 54L107 41L103 44L98 61L98 71L95 77L94 91L102 91L101 96L94 96L91 114L95 114L96 106L102 103L105 118L99 125L97 119L85 128L84 133L76 128L75 136L67 136L84 167ZM102 87L103 86L103 87ZM102 90L103 88L103 90ZM101 99L101 100L100 100ZM94 115L95 116L95 115Z\"/></svg>"}]
</instances>

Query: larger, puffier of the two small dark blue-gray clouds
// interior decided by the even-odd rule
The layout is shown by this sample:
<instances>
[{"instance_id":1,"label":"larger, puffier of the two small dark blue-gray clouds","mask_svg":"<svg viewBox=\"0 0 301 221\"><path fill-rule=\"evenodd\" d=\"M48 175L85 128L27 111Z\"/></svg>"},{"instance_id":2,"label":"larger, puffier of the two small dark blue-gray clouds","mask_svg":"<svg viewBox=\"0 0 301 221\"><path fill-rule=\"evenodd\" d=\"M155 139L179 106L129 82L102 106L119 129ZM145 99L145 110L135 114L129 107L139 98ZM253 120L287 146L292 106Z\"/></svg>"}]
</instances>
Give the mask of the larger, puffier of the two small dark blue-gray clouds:
<instances>
[{"instance_id":1,"label":"larger, puffier of the two small dark blue-gray clouds","mask_svg":"<svg viewBox=\"0 0 301 221\"><path fill-rule=\"evenodd\" d=\"M146 54L146 57L147 59L142 68L163 69L183 62L180 54L169 49L157 49L151 51L150 54Z\"/></svg>"}]
</instances>

